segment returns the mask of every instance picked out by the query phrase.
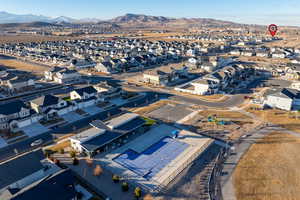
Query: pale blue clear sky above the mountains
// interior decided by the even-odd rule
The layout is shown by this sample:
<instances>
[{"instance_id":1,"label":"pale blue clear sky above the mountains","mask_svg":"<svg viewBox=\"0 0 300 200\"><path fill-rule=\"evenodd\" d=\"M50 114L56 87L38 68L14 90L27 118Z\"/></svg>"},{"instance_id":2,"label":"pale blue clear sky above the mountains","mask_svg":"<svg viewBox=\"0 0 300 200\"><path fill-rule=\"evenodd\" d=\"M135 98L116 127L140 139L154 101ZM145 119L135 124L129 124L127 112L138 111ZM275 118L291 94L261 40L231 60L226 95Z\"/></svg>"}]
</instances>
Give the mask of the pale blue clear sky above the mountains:
<instances>
[{"instance_id":1,"label":"pale blue clear sky above the mountains","mask_svg":"<svg viewBox=\"0 0 300 200\"><path fill-rule=\"evenodd\" d=\"M0 0L0 11L76 19L134 13L300 26L300 0Z\"/></svg>"}]
</instances>

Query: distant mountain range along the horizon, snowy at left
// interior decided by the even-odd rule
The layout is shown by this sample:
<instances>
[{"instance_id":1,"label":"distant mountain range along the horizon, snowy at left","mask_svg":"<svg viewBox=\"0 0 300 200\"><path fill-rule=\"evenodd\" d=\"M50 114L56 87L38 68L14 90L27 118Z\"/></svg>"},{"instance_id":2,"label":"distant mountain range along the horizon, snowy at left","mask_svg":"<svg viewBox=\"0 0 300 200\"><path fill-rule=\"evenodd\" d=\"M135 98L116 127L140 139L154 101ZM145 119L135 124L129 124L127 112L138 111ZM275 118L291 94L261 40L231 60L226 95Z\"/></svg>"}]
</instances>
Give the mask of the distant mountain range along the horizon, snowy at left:
<instances>
[{"instance_id":1,"label":"distant mountain range along the horizon, snowy at left","mask_svg":"<svg viewBox=\"0 0 300 200\"><path fill-rule=\"evenodd\" d=\"M34 23L33 23L34 22ZM38 24L37 22L43 22ZM54 26L68 24L81 24L81 23L108 23L116 26L123 27L191 27L191 26L201 26L201 25L213 25L213 26L234 26L239 25L234 22L215 20L209 18L169 18L163 16L149 16L140 14L125 14L110 20L100 20L96 18L86 18L86 19L73 19L70 17L60 16L57 18L46 17L43 15L17 15L8 12L0 12L0 24L10 24L12 26L17 24L14 23L25 23L26 27L30 26L31 23L35 27L41 26ZM48 23L48 24L47 24ZM3 26L1 26L3 27Z\"/></svg>"}]
</instances>

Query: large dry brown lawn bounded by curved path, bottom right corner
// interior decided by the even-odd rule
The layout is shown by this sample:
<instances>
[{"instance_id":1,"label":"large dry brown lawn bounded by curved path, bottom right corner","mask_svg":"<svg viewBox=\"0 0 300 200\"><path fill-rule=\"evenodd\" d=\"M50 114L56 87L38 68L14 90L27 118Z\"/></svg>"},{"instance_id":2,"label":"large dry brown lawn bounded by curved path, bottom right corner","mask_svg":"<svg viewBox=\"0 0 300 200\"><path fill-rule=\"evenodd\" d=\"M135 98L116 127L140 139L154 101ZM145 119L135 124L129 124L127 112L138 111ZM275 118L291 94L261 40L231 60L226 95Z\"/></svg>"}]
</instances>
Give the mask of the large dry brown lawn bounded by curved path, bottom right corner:
<instances>
[{"instance_id":1,"label":"large dry brown lawn bounded by curved path, bottom right corner","mask_svg":"<svg viewBox=\"0 0 300 200\"><path fill-rule=\"evenodd\" d=\"M300 199L300 139L278 132L252 145L234 171L237 200Z\"/></svg>"}]
</instances>

